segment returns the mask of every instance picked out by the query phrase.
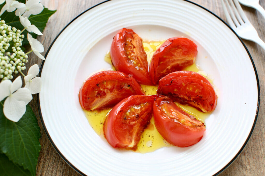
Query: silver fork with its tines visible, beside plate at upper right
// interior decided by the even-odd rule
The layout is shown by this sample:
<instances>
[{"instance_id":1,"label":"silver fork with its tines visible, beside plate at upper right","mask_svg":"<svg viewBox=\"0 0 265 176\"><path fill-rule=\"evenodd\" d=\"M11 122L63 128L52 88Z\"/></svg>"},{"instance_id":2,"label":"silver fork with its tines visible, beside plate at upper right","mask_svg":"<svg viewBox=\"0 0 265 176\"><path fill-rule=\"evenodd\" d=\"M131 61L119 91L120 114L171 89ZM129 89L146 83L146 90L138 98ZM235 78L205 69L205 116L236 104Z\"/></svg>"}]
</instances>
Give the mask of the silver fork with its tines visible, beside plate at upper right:
<instances>
[{"instance_id":1,"label":"silver fork with its tines visible, beside plate at upper right","mask_svg":"<svg viewBox=\"0 0 265 176\"><path fill-rule=\"evenodd\" d=\"M259 38L258 32L249 22L238 1L222 0L222 6L229 26L238 36L256 42L265 50L265 43Z\"/></svg>"}]
</instances>

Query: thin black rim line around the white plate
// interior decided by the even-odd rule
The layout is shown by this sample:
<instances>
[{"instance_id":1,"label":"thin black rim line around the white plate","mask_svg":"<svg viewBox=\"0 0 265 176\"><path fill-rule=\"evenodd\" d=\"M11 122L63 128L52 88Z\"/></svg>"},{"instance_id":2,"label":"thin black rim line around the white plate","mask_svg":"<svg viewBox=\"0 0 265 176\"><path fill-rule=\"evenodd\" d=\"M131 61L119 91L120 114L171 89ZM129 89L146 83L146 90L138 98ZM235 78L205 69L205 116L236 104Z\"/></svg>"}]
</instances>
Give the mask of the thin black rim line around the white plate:
<instances>
[{"instance_id":1,"label":"thin black rim line around the white plate","mask_svg":"<svg viewBox=\"0 0 265 176\"><path fill-rule=\"evenodd\" d=\"M103 4L103 3L105 3L105 2L108 2L108 1L112 1L112 0L106 0L106 1L103 1L103 2L101 2L101 3L98 3L98 4L96 4L96 5L94 5L94 6L92 6L92 7L90 7L90 8L88 8L87 10L85 10L85 11L83 11L82 13L80 13L78 16L76 16L73 20L71 20L60 32L59 32L59 34L55 37L55 39L52 41L52 43L51 43L51 45L49 46L49 48L48 48L48 50L46 51L46 54L45 54L45 59L46 59L46 57L47 57L47 55L48 55L48 53L49 53L49 51L50 51L50 49L51 49L51 47L52 47L52 45L54 44L54 42L56 41L56 39L60 36L60 34L74 21L74 20L76 20L78 17L80 17L81 15L83 15L85 12L87 12L87 11L89 11L90 9L92 9L92 8L94 8L94 7L96 7L96 6L99 6L100 4ZM241 42L241 44L245 47L245 50L246 50L246 52L248 53L248 55L249 55L249 59L250 59L250 61L251 61L251 63L252 63L252 66L253 66L253 69L254 69L254 72L255 72L255 75L256 75L256 80L257 80L257 90L258 90L258 101L257 101L257 110L256 110L256 116L255 116L255 119L254 119L254 122L253 122L253 125L252 125L252 127L251 127L251 130L250 130L250 132L249 132L249 135L248 135L248 137L247 137L247 139L246 139L246 141L244 142L244 144L242 145L242 147L240 148L240 150L237 152L237 154L232 158L232 160L231 161L229 161L229 163L227 163L222 169L220 169L217 173L215 173L214 175L218 175L218 174L220 174L220 173L222 173L226 168L228 168L228 166L230 165L230 164L232 164L233 163L233 161L235 161L235 159L240 155L240 153L243 151L243 149L245 148L245 146L246 146L246 144L248 143L248 141L249 141L249 139L250 139L250 137L251 137L251 135L252 135L252 133L253 133L253 130L254 130L254 128L255 128L255 125L256 125L256 122L257 122L257 118L258 118L258 112L259 112L259 104L260 104L260 86L259 86L259 79L258 79L258 73L257 73L257 69L256 69L256 67L255 67L255 64L254 64L254 61L253 61L253 59L252 59L252 57L251 57L251 55L250 55L250 53L249 53L249 50L248 50L248 48L246 47L246 45L244 44L244 42L241 40L241 38L236 34L236 32L224 21L224 20L222 20L219 16L217 16L215 13L213 13L213 12L211 12L210 10L208 10L207 8L205 8L205 7L202 7L201 5L199 5L199 4L197 4L197 3L195 3L195 2L191 2L191 1L189 1L189 0L184 0L184 1L186 1L186 2L188 2L188 3L192 3L192 4L194 4L194 5L196 5L196 6L198 6L198 7L200 7L200 8L202 8L202 9L204 9L204 10L206 10L207 12L209 12L211 15L213 15L213 16L215 16L216 18L218 18L221 22L223 22L236 36L237 36L237 38L240 40L240 42ZM42 73L42 68L43 68L43 65L44 65L44 63L45 63L45 60L43 60L42 61L42 63L41 63L41 67L40 67L40 70L39 70L39 77L41 77L41 73ZM51 136L50 136L50 134L49 134L49 132L48 132L48 130L47 130L47 128L46 128L46 126L45 126L45 123L44 123L44 120L43 120L43 117L42 117L42 113L41 113L41 106L40 106L40 99L39 99L39 93L37 94L37 103L38 103L38 112L39 112L39 116L40 116L40 120L41 120L41 124L42 124L42 126L43 126L43 129L44 129L44 131L45 131L45 133L46 133L46 135L47 135L47 137L48 137L48 139L49 139L49 141L51 142L51 144L52 144L52 146L54 147L54 149L56 150L56 152L60 155L60 157L61 158L63 158L63 160L70 166L70 167L72 167L76 172L78 172L79 174L81 174L81 175L86 175L86 174L84 174L83 172L81 172L79 169L77 169L72 163L70 163L70 161L68 161L67 160L67 158L60 152L60 150L57 148L57 146L55 145L55 143L53 142L53 140L51 139Z\"/></svg>"}]
</instances>

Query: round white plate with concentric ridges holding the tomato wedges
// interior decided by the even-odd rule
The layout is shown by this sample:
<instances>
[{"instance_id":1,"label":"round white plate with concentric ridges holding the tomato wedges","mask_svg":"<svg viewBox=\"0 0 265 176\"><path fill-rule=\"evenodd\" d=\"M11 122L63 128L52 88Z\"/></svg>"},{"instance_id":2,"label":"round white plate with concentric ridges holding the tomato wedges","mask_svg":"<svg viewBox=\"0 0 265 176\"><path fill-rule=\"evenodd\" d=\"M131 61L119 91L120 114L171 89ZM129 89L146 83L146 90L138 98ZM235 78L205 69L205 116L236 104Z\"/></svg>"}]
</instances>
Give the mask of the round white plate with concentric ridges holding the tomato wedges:
<instances>
[{"instance_id":1,"label":"round white plate with concentric ridges holding the tomato wedges","mask_svg":"<svg viewBox=\"0 0 265 176\"><path fill-rule=\"evenodd\" d=\"M89 125L78 91L103 60L113 36L132 28L143 40L185 36L198 45L196 63L217 89L206 132L187 148L152 153L118 151ZM259 101L255 67L238 36L213 13L188 1L112 0L74 19L55 39L42 65L39 112L58 153L86 175L213 175L242 151L254 128Z\"/></svg>"}]
</instances>

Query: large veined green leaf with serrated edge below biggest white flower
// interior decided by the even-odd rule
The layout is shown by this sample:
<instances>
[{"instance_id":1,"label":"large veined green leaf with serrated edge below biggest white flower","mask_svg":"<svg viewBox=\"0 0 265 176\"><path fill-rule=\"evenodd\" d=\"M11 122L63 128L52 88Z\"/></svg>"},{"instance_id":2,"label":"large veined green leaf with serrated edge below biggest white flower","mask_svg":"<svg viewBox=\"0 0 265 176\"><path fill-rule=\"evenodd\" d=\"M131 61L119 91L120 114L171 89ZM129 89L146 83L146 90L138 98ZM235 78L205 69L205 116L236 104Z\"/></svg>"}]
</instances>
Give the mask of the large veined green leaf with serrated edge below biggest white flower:
<instances>
[{"instance_id":1,"label":"large veined green leaf with serrated edge below biggest white flower","mask_svg":"<svg viewBox=\"0 0 265 176\"><path fill-rule=\"evenodd\" d=\"M3 104L3 101L2 101ZM38 121L29 105L18 122L8 120L0 103L0 153L4 153L13 163L28 169L36 175L41 136Z\"/></svg>"}]
</instances>

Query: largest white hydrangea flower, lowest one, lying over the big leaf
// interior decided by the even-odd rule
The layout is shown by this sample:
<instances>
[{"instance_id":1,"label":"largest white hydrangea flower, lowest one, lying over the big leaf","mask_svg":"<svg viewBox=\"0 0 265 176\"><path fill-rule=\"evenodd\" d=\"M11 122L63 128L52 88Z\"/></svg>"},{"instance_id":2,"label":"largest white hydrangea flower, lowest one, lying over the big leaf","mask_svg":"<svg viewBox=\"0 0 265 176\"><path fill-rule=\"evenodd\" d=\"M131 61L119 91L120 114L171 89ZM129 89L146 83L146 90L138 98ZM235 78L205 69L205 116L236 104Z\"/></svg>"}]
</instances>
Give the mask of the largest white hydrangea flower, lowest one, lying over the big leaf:
<instances>
[{"instance_id":1,"label":"largest white hydrangea flower, lowest one, lying over the big leaf","mask_svg":"<svg viewBox=\"0 0 265 176\"><path fill-rule=\"evenodd\" d=\"M32 100L32 95L27 88L21 88L22 79L17 77L13 83L3 80L0 83L0 101L6 98L3 112L6 118L17 122L26 112L26 105Z\"/></svg>"}]
</instances>

